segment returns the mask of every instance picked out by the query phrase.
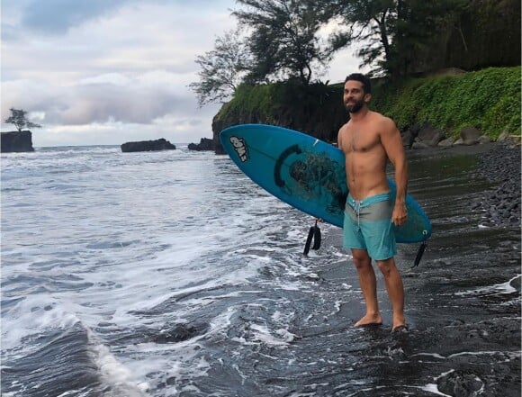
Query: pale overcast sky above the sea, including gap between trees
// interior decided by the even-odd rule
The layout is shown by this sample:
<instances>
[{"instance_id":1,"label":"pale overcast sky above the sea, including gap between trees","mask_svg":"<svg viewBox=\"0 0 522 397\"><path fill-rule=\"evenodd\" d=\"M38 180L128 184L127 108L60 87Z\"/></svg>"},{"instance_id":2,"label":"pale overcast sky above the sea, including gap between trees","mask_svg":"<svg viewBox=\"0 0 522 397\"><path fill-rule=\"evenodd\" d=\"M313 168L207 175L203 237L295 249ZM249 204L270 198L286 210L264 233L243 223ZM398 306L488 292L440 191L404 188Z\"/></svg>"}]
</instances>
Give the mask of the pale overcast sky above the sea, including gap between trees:
<instances>
[{"instance_id":1,"label":"pale overcast sky above the sea, including gap between trees","mask_svg":"<svg viewBox=\"0 0 522 397\"><path fill-rule=\"evenodd\" d=\"M35 147L211 138L194 59L236 27L233 0L2 0L2 121L23 109ZM345 50L327 76L359 61ZM339 98L339 101L341 98ZM2 131L14 125L2 124Z\"/></svg>"}]
</instances>

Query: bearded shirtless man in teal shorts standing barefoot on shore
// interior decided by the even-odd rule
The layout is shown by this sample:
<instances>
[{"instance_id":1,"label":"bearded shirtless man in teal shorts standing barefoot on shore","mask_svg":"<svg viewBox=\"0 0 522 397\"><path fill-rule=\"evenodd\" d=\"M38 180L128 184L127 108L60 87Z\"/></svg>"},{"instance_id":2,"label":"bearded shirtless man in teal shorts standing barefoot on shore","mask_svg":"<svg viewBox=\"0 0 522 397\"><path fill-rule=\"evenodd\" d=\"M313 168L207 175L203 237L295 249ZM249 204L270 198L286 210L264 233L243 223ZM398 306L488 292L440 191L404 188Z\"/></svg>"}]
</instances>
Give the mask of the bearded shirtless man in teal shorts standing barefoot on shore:
<instances>
[{"instance_id":1,"label":"bearded shirtless man in teal shorts standing barefoot on shore","mask_svg":"<svg viewBox=\"0 0 522 397\"><path fill-rule=\"evenodd\" d=\"M393 330L406 327L404 290L393 257L396 254L392 223L400 226L408 217L406 190L408 169L401 134L395 123L368 109L371 84L355 73L347 77L343 102L350 121L338 132L338 146L346 156L347 198L344 224L345 248L351 248L366 304L365 316L356 327L382 324L372 259L383 273L392 302ZM397 193L392 197L386 181L386 163L395 168Z\"/></svg>"}]
</instances>

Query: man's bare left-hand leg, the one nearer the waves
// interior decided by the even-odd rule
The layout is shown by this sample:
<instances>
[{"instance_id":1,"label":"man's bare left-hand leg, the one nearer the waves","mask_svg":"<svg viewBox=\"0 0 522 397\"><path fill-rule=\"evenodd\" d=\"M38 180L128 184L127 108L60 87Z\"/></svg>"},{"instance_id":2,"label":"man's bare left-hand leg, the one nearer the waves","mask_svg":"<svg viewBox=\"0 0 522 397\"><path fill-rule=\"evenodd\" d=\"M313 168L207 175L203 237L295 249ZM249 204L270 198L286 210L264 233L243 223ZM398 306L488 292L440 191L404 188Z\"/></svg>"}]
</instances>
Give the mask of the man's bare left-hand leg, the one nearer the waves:
<instances>
[{"instance_id":1,"label":"man's bare left-hand leg, the one nearer the waves","mask_svg":"<svg viewBox=\"0 0 522 397\"><path fill-rule=\"evenodd\" d=\"M375 278L374 267L372 267L372 258L368 257L368 253L365 249L352 248L352 255L366 303L365 317L356 322L356 327L382 324L383 318L379 312L379 303L377 302L377 280Z\"/></svg>"}]
</instances>

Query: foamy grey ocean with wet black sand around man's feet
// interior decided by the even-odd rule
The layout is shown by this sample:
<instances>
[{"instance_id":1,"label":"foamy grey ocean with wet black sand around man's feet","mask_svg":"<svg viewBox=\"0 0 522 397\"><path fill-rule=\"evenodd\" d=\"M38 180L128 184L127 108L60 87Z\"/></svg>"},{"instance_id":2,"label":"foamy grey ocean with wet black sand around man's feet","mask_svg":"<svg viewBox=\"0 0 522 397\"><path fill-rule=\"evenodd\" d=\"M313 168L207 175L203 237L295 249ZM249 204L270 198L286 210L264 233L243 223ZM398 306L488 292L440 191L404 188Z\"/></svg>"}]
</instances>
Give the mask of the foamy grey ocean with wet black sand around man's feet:
<instances>
[{"instance_id":1,"label":"foamy grey ocean with wet black sand around man's feet","mask_svg":"<svg viewBox=\"0 0 522 397\"><path fill-rule=\"evenodd\" d=\"M517 396L519 227L472 210L476 156L410 159L434 234L400 245L410 331L364 313L341 231L226 156L37 148L1 158L2 395ZM378 271L377 271L378 272ZM461 394L456 394L461 392Z\"/></svg>"}]
</instances>

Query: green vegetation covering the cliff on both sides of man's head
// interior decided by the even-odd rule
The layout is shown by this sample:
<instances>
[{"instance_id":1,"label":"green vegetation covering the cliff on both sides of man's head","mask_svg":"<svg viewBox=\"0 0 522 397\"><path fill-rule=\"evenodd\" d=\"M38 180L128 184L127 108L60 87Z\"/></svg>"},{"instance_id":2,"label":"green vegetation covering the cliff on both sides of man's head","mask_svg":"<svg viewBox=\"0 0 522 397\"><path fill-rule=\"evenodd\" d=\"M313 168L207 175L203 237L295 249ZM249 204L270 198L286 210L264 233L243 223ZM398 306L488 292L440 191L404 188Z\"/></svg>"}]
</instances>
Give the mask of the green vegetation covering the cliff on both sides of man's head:
<instances>
[{"instance_id":1,"label":"green vegetation covering the cliff on both sides of man's head","mask_svg":"<svg viewBox=\"0 0 522 397\"><path fill-rule=\"evenodd\" d=\"M520 87L520 67L410 78L395 85L378 80L371 108L392 117L401 131L430 123L456 136L464 127L474 126L496 139L502 131L520 135ZM338 129L347 122L342 95L342 84L243 85L215 116L213 130L259 122L336 140Z\"/></svg>"}]
</instances>

